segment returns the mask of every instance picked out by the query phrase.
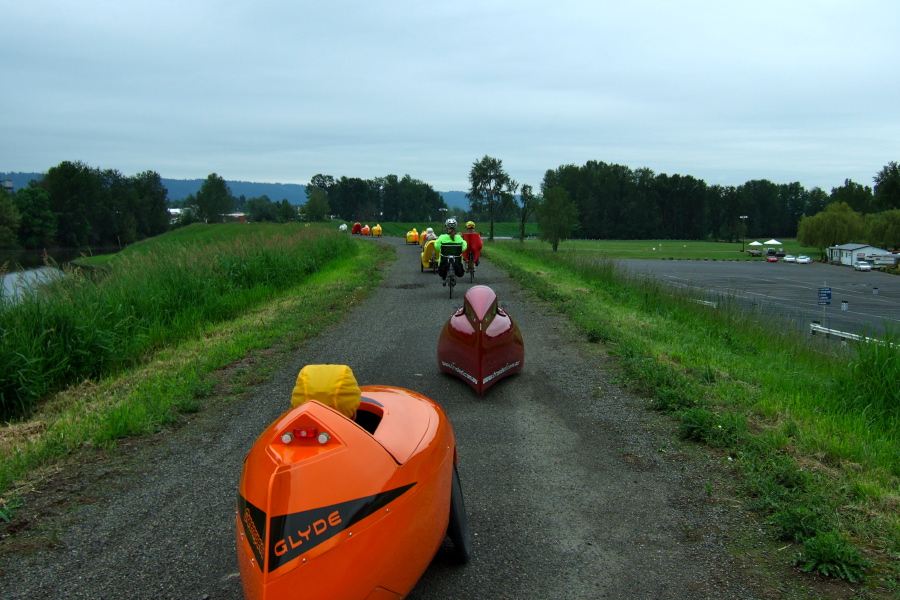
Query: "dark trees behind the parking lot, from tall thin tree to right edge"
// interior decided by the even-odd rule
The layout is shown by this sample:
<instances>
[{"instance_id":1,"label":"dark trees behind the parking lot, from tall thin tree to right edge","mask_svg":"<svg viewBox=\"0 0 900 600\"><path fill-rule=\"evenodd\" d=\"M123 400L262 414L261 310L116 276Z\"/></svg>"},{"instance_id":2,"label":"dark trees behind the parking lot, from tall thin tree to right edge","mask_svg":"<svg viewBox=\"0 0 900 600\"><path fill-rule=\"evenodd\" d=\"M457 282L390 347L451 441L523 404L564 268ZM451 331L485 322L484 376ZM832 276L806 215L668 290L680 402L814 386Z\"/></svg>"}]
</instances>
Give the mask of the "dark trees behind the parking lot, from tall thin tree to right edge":
<instances>
[{"instance_id":1,"label":"dark trees behind the parking lot, from tall thin tree to right edge","mask_svg":"<svg viewBox=\"0 0 900 600\"><path fill-rule=\"evenodd\" d=\"M868 241L900 245L900 167L890 162L873 178L874 188L850 179L827 193L800 183L753 180L738 186L708 185L690 175L600 161L546 171L541 193L512 180L499 159L484 156L469 173L470 218L521 220L532 215L541 237L554 245L573 235L585 239L687 239L735 241L746 237L816 237L816 247ZM845 207L841 209L839 207ZM830 211L830 212L829 212ZM818 215L828 214L826 217ZM852 221L852 215L859 217ZM812 217L816 217L813 219ZM834 221L852 223L835 228ZM824 223L829 223L826 227ZM843 222L843 221L842 221ZM818 233L816 234L818 235ZM848 237L849 236L849 237ZM824 239L830 240L821 246Z\"/></svg>"}]
</instances>

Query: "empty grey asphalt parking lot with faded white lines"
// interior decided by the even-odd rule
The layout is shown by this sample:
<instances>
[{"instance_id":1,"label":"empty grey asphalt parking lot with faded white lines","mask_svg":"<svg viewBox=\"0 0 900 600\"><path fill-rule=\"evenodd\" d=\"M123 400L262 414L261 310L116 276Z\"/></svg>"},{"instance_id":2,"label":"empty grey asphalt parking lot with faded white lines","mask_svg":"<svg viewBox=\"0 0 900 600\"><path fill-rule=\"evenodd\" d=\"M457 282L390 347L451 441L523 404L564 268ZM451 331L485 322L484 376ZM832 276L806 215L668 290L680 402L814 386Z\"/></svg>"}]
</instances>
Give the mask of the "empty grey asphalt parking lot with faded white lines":
<instances>
[{"instance_id":1,"label":"empty grey asphalt parking lot with faded white lines","mask_svg":"<svg viewBox=\"0 0 900 600\"><path fill-rule=\"evenodd\" d=\"M847 333L881 336L900 323L900 277L824 263L765 261L619 260L635 273L702 290L715 302L732 296L748 310L787 317L798 329L818 321ZM831 299L819 290L831 288ZM820 305L819 302L830 302Z\"/></svg>"}]
</instances>

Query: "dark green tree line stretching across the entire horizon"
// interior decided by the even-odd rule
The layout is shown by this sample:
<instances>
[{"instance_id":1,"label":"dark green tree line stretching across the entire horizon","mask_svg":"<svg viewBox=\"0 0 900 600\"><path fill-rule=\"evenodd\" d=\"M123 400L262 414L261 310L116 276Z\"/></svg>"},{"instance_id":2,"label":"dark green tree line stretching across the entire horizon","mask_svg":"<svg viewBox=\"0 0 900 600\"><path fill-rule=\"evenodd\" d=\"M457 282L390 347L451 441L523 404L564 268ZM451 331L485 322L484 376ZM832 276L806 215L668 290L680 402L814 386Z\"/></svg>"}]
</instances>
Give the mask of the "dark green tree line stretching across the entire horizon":
<instances>
[{"instance_id":1,"label":"dark green tree line stretching across the entire horizon","mask_svg":"<svg viewBox=\"0 0 900 600\"><path fill-rule=\"evenodd\" d=\"M849 241L898 247L900 213L894 211L900 210L900 167L888 163L873 181L870 187L846 179L830 193L765 179L721 186L690 175L588 161L547 170L536 193L514 181L500 159L484 156L469 172L467 209L451 211L439 192L409 175L317 174L306 185L306 205L298 209L286 199L235 198L212 173L179 204L187 209L181 224L219 222L234 211L251 221L433 222L451 214L486 223L481 227L488 228L489 238L494 222L520 222L524 239L525 223L537 220L542 237L554 246L574 236L723 241L765 236L803 237L816 247ZM126 177L65 161L14 194L0 190L0 247L126 245L166 231L171 205L153 171Z\"/></svg>"}]
</instances>

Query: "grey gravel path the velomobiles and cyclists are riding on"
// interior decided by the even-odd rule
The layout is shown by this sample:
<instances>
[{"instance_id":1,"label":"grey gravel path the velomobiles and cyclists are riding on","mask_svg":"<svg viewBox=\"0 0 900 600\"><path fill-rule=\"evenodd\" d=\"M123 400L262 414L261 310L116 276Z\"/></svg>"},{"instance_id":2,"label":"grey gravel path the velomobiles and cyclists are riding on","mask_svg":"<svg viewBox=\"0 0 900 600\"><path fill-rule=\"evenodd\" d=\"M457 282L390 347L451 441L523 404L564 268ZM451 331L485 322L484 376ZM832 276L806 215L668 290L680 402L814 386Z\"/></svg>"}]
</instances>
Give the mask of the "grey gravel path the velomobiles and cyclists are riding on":
<instances>
[{"instance_id":1,"label":"grey gravel path the velomobiles and cyclists are riding on","mask_svg":"<svg viewBox=\"0 0 900 600\"><path fill-rule=\"evenodd\" d=\"M708 484L721 489L723 460L675 441L645 400L613 383L600 347L483 262L477 283L519 324L526 359L478 398L436 364L440 329L470 284L451 300L420 272L417 246L372 243L398 255L376 292L266 383L61 473L43 493L65 509L32 523L48 532L44 543L2 557L0 597L241 598L242 460L310 363L348 364L362 385L424 393L453 423L473 557L459 567L439 553L410 598L772 597L756 587L772 582L726 548L740 520Z\"/></svg>"}]
</instances>

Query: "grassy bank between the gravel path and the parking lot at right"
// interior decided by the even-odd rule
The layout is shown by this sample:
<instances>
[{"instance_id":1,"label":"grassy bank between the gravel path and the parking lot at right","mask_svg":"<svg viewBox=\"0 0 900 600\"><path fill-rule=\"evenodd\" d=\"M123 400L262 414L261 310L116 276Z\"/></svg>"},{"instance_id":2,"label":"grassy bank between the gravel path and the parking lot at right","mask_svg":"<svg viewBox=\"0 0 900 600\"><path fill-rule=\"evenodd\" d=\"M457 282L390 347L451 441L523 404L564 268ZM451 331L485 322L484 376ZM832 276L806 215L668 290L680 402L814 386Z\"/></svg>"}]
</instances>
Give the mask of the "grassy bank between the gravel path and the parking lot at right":
<instances>
[{"instance_id":1,"label":"grassy bank between the gravel path and the parking lot at right","mask_svg":"<svg viewBox=\"0 0 900 600\"><path fill-rule=\"evenodd\" d=\"M629 275L602 258L607 244L620 243L485 253L604 344L683 438L733 461L746 507L799 568L900 592L900 349L817 351L771 315Z\"/></svg>"}]
</instances>

